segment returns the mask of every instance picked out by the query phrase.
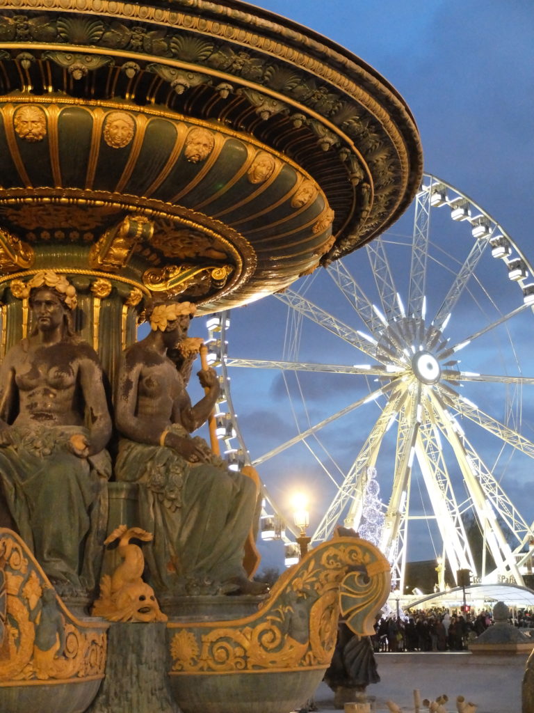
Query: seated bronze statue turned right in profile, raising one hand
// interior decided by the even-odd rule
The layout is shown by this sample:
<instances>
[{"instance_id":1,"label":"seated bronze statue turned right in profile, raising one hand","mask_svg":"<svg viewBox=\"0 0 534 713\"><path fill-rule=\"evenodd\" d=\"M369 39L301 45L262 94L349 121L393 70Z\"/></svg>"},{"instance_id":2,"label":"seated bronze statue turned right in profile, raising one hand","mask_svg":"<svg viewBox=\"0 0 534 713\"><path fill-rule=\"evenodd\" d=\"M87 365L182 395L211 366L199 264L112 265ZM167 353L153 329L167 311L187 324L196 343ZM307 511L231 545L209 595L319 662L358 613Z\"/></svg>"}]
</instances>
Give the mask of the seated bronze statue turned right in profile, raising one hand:
<instances>
[{"instance_id":1,"label":"seated bronze statue turned right in profile, raising one hand","mask_svg":"<svg viewBox=\"0 0 534 713\"><path fill-rule=\"evenodd\" d=\"M216 372L199 371L206 394L193 406L167 354L186 339L194 312L189 302L152 305L151 332L125 351L115 401L124 436L115 476L140 483L136 524L154 534L144 552L158 597L257 594L265 585L248 580L242 564L256 485L191 436L216 403Z\"/></svg>"}]
</instances>

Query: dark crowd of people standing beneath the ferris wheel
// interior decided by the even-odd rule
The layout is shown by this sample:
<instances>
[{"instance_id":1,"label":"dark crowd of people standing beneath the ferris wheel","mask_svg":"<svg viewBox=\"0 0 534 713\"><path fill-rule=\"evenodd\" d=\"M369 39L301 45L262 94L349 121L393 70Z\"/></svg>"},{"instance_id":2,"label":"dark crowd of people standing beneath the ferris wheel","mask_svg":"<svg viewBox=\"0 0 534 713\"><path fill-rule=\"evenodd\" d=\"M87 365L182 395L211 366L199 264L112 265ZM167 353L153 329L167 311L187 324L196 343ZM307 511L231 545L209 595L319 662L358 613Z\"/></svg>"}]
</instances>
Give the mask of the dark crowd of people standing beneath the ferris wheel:
<instances>
[{"instance_id":1,"label":"dark crowd of people standing beneath the ferris wheel","mask_svg":"<svg viewBox=\"0 0 534 713\"><path fill-rule=\"evenodd\" d=\"M534 627L530 612L518 612L518 627ZM402 651L464 651L493 624L491 612L449 612L446 609L409 611L404 616L377 617L372 637L375 653Z\"/></svg>"}]
</instances>

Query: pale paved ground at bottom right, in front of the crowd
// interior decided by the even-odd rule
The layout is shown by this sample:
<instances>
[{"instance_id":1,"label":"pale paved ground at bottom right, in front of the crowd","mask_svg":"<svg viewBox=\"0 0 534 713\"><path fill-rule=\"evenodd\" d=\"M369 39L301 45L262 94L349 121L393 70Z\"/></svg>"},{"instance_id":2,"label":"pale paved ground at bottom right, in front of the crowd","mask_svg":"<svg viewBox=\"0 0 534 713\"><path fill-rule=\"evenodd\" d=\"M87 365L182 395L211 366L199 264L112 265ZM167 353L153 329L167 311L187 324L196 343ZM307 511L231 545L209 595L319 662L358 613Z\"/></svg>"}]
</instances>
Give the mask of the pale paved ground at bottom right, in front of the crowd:
<instances>
[{"instance_id":1,"label":"pale paved ground at bottom right, in front of the crowd","mask_svg":"<svg viewBox=\"0 0 534 713\"><path fill-rule=\"evenodd\" d=\"M446 693L447 711L456 712L456 696L478 704L476 713L521 713L521 682L525 655L480 656L470 652L377 654L380 682L367 688L376 697L376 711L387 712L385 702L402 711L414 711L413 689L422 699ZM324 683L315 693L320 713L334 709L333 692ZM421 708L421 713L428 709ZM529 712L529 713L534 713Z\"/></svg>"}]
</instances>

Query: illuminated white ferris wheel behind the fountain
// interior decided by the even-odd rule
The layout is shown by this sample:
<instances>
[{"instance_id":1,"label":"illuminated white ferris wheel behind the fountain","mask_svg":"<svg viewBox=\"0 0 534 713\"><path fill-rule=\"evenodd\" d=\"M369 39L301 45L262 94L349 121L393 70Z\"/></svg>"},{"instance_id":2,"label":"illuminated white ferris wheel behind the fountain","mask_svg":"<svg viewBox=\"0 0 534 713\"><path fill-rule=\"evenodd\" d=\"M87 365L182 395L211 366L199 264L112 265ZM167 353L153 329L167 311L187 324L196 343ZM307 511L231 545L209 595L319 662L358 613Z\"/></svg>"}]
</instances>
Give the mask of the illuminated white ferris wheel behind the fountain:
<instances>
[{"instance_id":1,"label":"illuminated white ferris wheel behind the fountain","mask_svg":"<svg viewBox=\"0 0 534 713\"><path fill-rule=\"evenodd\" d=\"M295 289L211 318L218 432L231 460L258 469L273 516L290 519L278 494L298 471L315 493L312 545L338 524L365 532L400 593L424 546L440 589L458 570L523 584L533 270L488 212L434 176L403 220Z\"/></svg>"}]
</instances>

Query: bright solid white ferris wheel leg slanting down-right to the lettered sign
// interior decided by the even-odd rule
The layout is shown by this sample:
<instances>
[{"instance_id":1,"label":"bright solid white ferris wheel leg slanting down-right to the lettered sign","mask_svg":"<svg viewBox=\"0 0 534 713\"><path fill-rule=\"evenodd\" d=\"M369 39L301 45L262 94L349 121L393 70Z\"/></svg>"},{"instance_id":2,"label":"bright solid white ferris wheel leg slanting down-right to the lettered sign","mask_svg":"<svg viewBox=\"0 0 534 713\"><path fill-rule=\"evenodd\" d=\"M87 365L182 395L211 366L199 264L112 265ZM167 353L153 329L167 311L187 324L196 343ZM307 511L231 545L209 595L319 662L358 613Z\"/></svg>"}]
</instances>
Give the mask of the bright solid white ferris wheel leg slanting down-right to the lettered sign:
<instances>
[{"instance_id":1,"label":"bright solid white ferris wheel leg slanting down-right to the lettered sign","mask_svg":"<svg viewBox=\"0 0 534 713\"><path fill-rule=\"evenodd\" d=\"M473 509L481 530L485 535L488 548L491 551L493 560L497 565L497 571L501 575L512 574L516 582L523 581L517 567L510 546L506 541L501 525L498 523L497 513L504 517L506 508L501 509L501 503L496 505L488 497L486 476L492 478L488 468L484 465L482 458L468 443L464 434L457 428L454 417L448 414L444 404L436 394L431 395L434 409L440 414L441 424L444 426L444 435L451 444L456 461L461 470L462 476L473 501Z\"/></svg>"}]
</instances>

